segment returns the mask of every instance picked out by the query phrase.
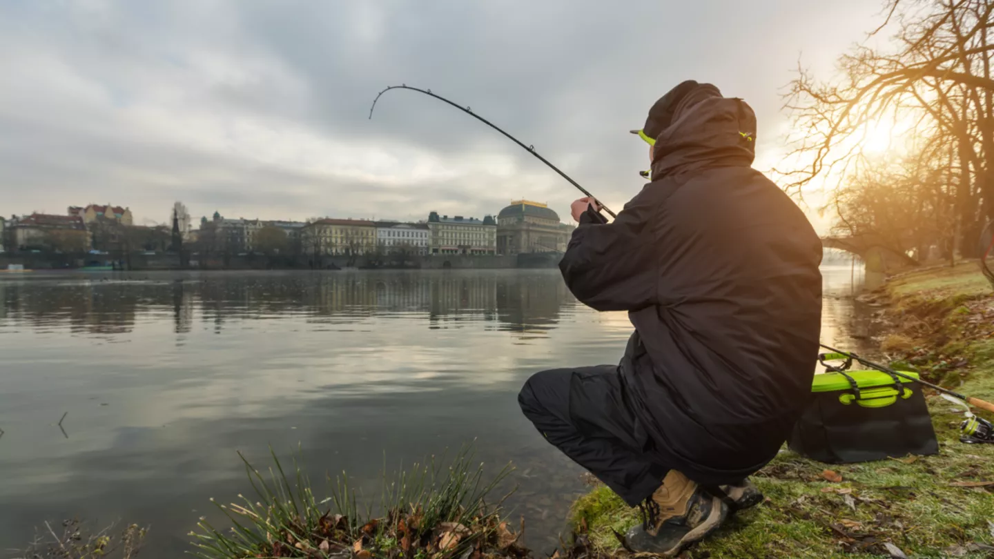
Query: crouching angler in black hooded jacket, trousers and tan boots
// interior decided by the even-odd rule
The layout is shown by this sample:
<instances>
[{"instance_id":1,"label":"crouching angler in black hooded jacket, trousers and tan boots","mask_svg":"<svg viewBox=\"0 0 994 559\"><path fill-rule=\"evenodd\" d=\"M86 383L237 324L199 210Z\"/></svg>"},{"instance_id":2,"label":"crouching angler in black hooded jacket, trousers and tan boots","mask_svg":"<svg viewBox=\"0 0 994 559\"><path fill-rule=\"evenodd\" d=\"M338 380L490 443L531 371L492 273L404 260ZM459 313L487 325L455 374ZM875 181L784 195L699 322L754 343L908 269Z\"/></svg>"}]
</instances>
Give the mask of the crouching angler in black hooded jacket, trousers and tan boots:
<instances>
[{"instance_id":1,"label":"crouching angler in black hooded jacket, trousers and tan boots","mask_svg":"<svg viewBox=\"0 0 994 559\"><path fill-rule=\"evenodd\" d=\"M550 443L629 505L637 551L677 555L762 499L747 477L808 401L822 248L790 198L751 168L755 115L688 81L645 125L650 182L606 223L597 203L560 263L596 310L635 327L618 365L532 376L518 397Z\"/></svg>"}]
</instances>

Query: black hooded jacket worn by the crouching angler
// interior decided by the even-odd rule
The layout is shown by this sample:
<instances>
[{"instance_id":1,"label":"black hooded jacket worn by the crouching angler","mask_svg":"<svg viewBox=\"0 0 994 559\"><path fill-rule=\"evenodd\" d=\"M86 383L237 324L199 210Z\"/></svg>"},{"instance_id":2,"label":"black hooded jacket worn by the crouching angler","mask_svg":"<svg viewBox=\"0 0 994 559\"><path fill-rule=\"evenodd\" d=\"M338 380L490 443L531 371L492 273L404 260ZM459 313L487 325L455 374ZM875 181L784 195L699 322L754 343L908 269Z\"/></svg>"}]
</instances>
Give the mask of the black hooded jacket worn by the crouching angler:
<instances>
[{"instance_id":1,"label":"black hooded jacket worn by the crouching angler","mask_svg":"<svg viewBox=\"0 0 994 559\"><path fill-rule=\"evenodd\" d=\"M626 310L621 402L573 387L571 413L700 483L766 465L808 401L821 328L822 247L751 168L755 116L713 86L659 133L652 182L609 224L588 212L560 264L583 303ZM617 406L620 406L618 408Z\"/></svg>"}]
</instances>

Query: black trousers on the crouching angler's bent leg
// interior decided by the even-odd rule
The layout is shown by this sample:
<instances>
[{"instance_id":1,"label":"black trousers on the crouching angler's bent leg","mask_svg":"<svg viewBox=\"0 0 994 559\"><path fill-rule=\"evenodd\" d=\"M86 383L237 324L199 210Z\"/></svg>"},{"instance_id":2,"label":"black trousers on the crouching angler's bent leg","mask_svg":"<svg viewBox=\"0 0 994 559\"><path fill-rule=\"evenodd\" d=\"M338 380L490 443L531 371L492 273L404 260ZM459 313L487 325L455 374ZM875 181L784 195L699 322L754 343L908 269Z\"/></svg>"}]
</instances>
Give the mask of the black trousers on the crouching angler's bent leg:
<instances>
[{"instance_id":1,"label":"black trousers on the crouching angler's bent leg","mask_svg":"<svg viewBox=\"0 0 994 559\"><path fill-rule=\"evenodd\" d=\"M635 506L669 468L646 458L646 442L624 399L616 365L542 371L518 395L539 433Z\"/></svg>"}]
</instances>

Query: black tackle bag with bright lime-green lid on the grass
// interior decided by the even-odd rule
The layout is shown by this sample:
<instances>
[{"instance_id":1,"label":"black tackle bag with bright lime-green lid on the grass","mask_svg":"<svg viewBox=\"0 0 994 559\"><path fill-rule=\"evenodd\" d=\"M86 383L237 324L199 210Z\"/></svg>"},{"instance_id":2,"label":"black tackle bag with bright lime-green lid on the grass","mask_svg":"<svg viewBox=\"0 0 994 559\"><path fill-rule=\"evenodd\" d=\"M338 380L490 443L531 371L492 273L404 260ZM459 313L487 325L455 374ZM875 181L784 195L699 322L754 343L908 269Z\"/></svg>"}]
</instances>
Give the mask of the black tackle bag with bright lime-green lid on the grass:
<instances>
[{"instance_id":1,"label":"black tackle bag with bright lime-green lid on the grass","mask_svg":"<svg viewBox=\"0 0 994 559\"><path fill-rule=\"evenodd\" d=\"M845 364L825 363L838 359ZM828 464L938 453L917 383L883 371L850 371L852 359L841 354L822 354L819 361L826 372L814 376L811 401L787 442L790 450Z\"/></svg>"}]
</instances>

